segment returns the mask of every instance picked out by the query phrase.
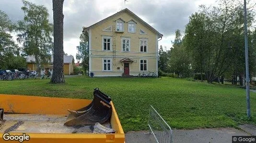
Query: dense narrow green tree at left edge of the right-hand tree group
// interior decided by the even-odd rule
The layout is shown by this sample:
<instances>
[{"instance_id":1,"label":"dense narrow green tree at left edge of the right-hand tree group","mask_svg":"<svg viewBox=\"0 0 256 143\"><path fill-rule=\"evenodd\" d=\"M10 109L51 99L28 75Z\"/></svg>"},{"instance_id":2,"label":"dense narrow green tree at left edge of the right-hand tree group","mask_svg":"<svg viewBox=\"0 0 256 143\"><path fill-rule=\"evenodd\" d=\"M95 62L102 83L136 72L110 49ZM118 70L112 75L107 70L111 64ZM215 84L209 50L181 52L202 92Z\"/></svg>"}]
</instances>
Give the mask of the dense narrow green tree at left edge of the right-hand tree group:
<instances>
[{"instance_id":1,"label":"dense narrow green tree at left edge of the right-hand tree group","mask_svg":"<svg viewBox=\"0 0 256 143\"><path fill-rule=\"evenodd\" d=\"M206 60L209 57L209 39L212 38L207 33L207 25L209 20L203 13L194 13L189 17L189 23L186 25L184 46L189 52L193 60L193 69L195 72L201 73L201 81L203 80L203 72L206 68Z\"/></svg>"}]
</instances>

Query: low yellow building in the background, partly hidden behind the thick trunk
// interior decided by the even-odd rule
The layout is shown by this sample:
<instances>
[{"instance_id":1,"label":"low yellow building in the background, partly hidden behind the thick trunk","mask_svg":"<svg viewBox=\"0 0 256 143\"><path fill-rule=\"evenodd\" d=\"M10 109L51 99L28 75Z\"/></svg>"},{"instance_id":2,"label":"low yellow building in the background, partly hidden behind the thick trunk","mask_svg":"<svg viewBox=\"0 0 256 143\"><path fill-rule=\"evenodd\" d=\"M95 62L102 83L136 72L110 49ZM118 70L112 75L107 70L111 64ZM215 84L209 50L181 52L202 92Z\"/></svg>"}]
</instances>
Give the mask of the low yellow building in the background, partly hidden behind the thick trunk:
<instances>
[{"instance_id":1,"label":"low yellow building in the background, partly hidden behind the thick trunk","mask_svg":"<svg viewBox=\"0 0 256 143\"><path fill-rule=\"evenodd\" d=\"M64 65L63 65L63 72L64 75L70 75L74 72L74 58L73 56L66 56L64 55ZM53 56L51 56L51 60L47 63L43 63L40 67L41 73L45 72L46 70L49 72L53 72ZM28 56L27 57L27 69L30 71L37 71L37 66L35 63L35 57L34 56Z\"/></svg>"}]
</instances>

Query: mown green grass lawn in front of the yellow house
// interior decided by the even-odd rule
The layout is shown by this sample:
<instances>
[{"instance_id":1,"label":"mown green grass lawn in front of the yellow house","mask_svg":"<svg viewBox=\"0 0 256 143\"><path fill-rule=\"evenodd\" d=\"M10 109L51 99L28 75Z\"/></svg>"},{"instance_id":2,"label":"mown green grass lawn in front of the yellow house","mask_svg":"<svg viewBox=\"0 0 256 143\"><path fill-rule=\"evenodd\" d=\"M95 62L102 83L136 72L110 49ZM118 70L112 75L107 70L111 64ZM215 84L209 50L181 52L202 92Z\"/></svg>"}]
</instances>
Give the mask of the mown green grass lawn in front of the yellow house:
<instances>
[{"instance_id":1,"label":"mown green grass lawn in front of the yellow house","mask_svg":"<svg viewBox=\"0 0 256 143\"><path fill-rule=\"evenodd\" d=\"M236 127L256 123L256 93L251 92L252 119L246 118L245 90L175 78L69 77L65 84L47 80L0 81L0 93L92 99L98 87L110 95L125 130L147 130L149 105L172 128Z\"/></svg>"}]
</instances>

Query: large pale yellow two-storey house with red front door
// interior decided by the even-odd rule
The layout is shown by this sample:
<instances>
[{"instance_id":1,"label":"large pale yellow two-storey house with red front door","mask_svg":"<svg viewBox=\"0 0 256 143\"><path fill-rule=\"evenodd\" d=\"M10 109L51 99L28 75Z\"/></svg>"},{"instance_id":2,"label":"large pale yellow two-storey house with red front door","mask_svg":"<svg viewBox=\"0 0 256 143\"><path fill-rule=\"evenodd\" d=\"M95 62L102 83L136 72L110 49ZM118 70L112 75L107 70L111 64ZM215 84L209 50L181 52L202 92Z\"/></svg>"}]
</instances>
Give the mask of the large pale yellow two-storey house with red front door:
<instances>
[{"instance_id":1,"label":"large pale yellow two-storey house with red front door","mask_svg":"<svg viewBox=\"0 0 256 143\"><path fill-rule=\"evenodd\" d=\"M128 9L83 28L89 37L89 72L94 76L158 74L158 39L163 34Z\"/></svg>"}]
</instances>

